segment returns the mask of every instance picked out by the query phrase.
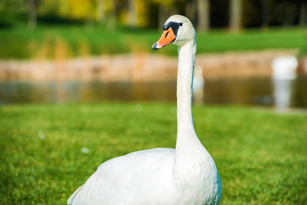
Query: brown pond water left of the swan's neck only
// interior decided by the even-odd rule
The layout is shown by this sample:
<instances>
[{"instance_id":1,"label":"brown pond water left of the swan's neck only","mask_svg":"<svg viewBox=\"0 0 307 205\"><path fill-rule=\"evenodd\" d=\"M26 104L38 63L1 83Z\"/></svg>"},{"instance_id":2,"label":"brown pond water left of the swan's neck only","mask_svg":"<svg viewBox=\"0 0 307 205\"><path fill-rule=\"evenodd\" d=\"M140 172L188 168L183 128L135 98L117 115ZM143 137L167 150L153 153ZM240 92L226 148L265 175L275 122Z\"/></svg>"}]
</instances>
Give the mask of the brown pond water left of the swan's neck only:
<instances>
[{"instance_id":1,"label":"brown pond water left of the swan's neck only","mask_svg":"<svg viewBox=\"0 0 307 205\"><path fill-rule=\"evenodd\" d=\"M176 101L176 82L1 82L0 103Z\"/></svg>"}]
</instances>

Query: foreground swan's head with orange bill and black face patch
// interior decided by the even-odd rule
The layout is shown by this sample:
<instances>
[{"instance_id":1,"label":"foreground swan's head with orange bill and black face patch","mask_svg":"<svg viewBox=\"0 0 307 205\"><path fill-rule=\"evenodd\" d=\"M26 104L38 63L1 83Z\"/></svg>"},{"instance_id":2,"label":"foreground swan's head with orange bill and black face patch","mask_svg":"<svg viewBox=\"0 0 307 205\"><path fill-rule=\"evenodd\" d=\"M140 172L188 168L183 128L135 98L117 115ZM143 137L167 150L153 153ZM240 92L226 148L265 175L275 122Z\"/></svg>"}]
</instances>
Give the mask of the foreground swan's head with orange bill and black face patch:
<instances>
[{"instance_id":1,"label":"foreground swan's head with orange bill and black face patch","mask_svg":"<svg viewBox=\"0 0 307 205\"><path fill-rule=\"evenodd\" d=\"M170 43L183 46L189 41L195 41L195 30L191 21L185 16L173 15L163 26L161 38L153 44L153 50L158 50Z\"/></svg>"}]
</instances>

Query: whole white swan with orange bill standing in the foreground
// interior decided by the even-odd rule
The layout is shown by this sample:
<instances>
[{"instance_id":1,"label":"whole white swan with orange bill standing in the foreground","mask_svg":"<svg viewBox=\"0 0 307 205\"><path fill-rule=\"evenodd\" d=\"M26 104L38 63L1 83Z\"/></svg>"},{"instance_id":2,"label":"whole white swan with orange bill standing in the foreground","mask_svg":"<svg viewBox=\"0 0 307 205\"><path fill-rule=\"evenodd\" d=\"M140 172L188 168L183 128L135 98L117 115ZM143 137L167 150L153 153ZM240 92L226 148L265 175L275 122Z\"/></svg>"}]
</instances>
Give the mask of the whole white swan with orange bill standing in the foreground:
<instances>
[{"instance_id":1,"label":"whole white swan with orange bill standing in the foreground","mask_svg":"<svg viewBox=\"0 0 307 205\"><path fill-rule=\"evenodd\" d=\"M163 26L157 50L178 45L176 149L155 148L110 159L68 199L73 205L217 205L221 181L210 154L196 136L192 120L195 30L184 16Z\"/></svg>"}]
</instances>

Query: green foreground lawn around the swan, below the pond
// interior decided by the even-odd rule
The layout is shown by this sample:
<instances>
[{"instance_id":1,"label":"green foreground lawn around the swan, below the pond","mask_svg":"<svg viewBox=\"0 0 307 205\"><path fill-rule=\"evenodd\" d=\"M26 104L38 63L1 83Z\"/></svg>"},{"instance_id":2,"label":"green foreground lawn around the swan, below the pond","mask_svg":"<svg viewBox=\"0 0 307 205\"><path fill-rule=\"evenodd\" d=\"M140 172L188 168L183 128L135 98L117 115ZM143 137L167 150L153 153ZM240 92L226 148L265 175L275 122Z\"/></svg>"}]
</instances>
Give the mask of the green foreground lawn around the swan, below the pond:
<instances>
[{"instance_id":1,"label":"green foreground lawn around the swan, below the pond","mask_svg":"<svg viewBox=\"0 0 307 205\"><path fill-rule=\"evenodd\" d=\"M306 113L227 106L193 112L222 179L221 205L307 202ZM174 103L1 106L0 204L63 205L103 161L174 148L175 138Z\"/></svg>"}]
</instances>

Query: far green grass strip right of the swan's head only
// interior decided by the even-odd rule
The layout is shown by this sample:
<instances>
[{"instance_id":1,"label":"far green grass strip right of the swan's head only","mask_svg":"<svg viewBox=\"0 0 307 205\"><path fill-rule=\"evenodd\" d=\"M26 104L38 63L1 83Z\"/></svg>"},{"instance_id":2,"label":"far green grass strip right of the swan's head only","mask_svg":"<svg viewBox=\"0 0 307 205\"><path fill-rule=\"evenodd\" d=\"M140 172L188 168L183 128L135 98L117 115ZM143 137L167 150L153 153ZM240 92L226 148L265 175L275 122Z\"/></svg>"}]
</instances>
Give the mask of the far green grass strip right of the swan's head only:
<instances>
[{"instance_id":1,"label":"far green grass strip right of the swan's head only","mask_svg":"<svg viewBox=\"0 0 307 205\"><path fill-rule=\"evenodd\" d=\"M306 29L270 28L269 30L247 29L241 33L212 31L198 34L200 52L246 51L263 49L307 48Z\"/></svg>"}]
</instances>

